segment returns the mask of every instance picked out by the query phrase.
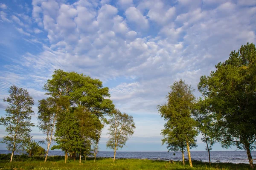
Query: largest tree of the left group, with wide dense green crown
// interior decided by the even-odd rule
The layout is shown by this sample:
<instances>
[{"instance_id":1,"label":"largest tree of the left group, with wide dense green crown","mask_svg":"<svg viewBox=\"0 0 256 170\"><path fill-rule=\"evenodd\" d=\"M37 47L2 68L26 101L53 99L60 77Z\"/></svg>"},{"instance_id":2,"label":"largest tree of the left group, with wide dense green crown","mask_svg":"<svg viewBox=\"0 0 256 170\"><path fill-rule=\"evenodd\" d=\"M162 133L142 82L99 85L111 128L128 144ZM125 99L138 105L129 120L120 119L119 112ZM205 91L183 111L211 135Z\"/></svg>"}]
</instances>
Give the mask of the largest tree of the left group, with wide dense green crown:
<instances>
[{"instance_id":1,"label":"largest tree of the left group, with wide dense green crown","mask_svg":"<svg viewBox=\"0 0 256 170\"><path fill-rule=\"evenodd\" d=\"M59 114L58 123L56 124L55 135L58 140L58 147L65 150L65 152L70 151L69 153L71 154L79 153L79 161L81 162L82 153L87 154L91 151L89 147L91 147L92 133L95 132L94 120L99 120L105 114L111 113L111 110L114 108L112 101L108 99L110 97L108 88L103 87L99 79L92 79L89 76L76 72L55 70L52 79L47 80L47 83L44 85L44 90L47 91L47 95L57 99L65 99L65 111ZM64 126L68 122L65 117L66 115L72 115L71 118L76 121L74 127ZM77 128L76 130L74 129L75 127ZM75 130L77 136L64 133L67 128L70 128L72 131ZM79 136L80 139L78 139ZM67 139L77 139L76 146L72 145L74 142L67 142ZM71 144L72 147L67 148L66 144Z\"/></svg>"}]
</instances>

